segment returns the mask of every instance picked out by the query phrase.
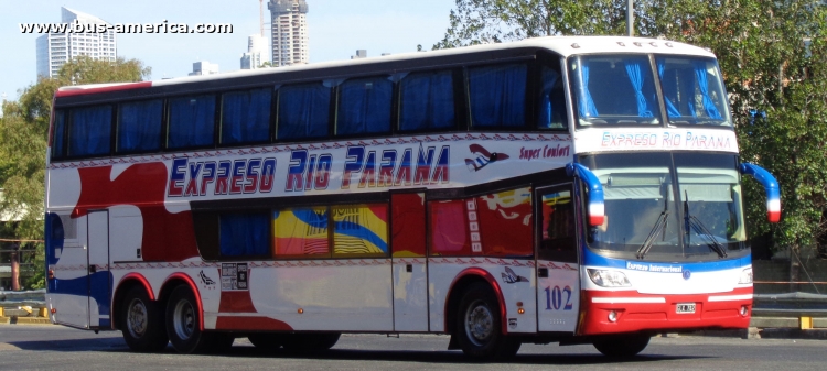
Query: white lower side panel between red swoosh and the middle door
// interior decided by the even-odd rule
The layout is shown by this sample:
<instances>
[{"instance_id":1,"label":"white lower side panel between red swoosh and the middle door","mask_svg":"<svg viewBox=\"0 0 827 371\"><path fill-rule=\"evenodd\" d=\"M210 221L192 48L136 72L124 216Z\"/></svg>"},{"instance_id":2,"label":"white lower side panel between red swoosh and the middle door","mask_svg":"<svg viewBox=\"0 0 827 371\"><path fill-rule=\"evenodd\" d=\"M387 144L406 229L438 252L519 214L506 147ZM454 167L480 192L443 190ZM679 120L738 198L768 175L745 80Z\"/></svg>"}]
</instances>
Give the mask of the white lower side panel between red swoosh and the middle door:
<instances>
[{"instance_id":1,"label":"white lower side panel between red swoosh and the middle door","mask_svg":"<svg viewBox=\"0 0 827 371\"><path fill-rule=\"evenodd\" d=\"M293 330L394 329L390 259L276 261L260 265L249 268L253 307L246 308L248 312L283 321ZM222 290L222 307L226 307L227 291ZM234 307L233 310L245 310ZM234 316L221 312L219 319Z\"/></svg>"}]
</instances>

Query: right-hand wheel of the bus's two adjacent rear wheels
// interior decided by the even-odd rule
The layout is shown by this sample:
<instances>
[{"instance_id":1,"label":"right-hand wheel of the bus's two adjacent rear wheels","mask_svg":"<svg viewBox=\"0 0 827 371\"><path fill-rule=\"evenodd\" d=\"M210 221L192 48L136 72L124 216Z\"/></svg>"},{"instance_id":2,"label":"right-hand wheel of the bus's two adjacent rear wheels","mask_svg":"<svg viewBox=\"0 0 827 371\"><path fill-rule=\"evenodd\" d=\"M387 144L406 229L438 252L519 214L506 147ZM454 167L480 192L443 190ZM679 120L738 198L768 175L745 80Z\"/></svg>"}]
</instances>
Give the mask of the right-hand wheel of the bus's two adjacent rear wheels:
<instances>
[{"instance_id":1,"label":"right-hand wheel of the bus's two adjacent rear wheels","mask_svg":"<svg viewBox=\"0 0 827 371\"><path fill-rule=\"evenodd\" d=\"M175 287L167 303L167 334L172 347L181 353L190 354L204 353L219 346L217 342L224 334L204 332L200 323L201 313L195 295L185 285Z\"/></svg>"}]
</instances>

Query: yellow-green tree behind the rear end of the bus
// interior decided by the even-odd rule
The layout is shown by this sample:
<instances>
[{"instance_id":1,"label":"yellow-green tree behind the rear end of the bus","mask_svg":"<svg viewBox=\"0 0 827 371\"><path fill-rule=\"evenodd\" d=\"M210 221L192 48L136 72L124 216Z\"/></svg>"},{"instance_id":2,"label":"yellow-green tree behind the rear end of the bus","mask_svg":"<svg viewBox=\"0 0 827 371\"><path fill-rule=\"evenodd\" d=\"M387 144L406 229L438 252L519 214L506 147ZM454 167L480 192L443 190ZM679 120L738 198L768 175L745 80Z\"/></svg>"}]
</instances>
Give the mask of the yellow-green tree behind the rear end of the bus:
<instances>
[{"instance_id":1,"label":"yellow-green tree behind the rear end of the bus","mask_svg":"<svg viewBox=\"0 0 827 371\"><path fill-rule=\"evenodd\" d=\"M0 212L15 215L19 221L2 226L0 236L12 239L43 239L43 195L45 153L52 98L60 86L140 81L151 69L140 61L118 58L95 61L80 56L61 67L56 78L40 78L21 91L19 101L6 102L0 118L0 189L3 197ZM36 249L35 272L25 286L42 286L43 244L21 248Z\"/></svg>"}]
</instances>

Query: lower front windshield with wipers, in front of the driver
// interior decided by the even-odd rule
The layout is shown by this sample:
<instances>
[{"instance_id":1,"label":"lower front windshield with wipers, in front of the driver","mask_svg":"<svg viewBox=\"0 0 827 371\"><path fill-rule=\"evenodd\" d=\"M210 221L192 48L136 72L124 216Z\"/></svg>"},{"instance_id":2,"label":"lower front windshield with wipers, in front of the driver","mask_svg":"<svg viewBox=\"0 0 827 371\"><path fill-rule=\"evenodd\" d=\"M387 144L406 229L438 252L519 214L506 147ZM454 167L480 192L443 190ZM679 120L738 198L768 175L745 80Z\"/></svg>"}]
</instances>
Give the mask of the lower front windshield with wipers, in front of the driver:
<instances>
[{"instance_id":1,"label":"lower front windshield with wipers, in front of the driver","mask_svg":"<svg viewBox=\"0 0 827 371\"><path fill-rule=\"evenodd\" d=\"M581 162L600 178L605 196L604 222L587 238L597 252L697 261L745 249L734 155L626 153Z\"/></svg>"}]
</instances>

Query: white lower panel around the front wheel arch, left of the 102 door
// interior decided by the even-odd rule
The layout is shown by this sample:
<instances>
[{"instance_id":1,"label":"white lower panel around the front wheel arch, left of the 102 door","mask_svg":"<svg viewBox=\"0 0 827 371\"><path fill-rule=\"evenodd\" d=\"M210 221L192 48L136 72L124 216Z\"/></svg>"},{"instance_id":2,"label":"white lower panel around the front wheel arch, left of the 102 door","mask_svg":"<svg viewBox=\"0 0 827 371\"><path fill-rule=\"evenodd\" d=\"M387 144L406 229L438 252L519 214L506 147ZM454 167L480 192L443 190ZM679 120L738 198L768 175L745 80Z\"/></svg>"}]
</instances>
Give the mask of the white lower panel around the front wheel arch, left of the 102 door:
<instances>
[{"instance_id":1,"label":"white lower panel around the front wheel arch, left of the 102 door","mask_svg":"<svg viewBox=\"0 0 827 371\"><path fill-rule=\"evenodd\" d=\"M450 332L445 318L457 313L445 313L448 295L453 294L453 284L463 271L473 268L483 270L496 280L505 301L505 318L508 332L537 332L537 304L534 261L498 258L430 258L428 260L429 313L432 332ZM463 295L464 293L457 293ZM523 306L517 304L522 303ZM518 314L518 309L525 312Z\"/></svg>"}]
</instances>

